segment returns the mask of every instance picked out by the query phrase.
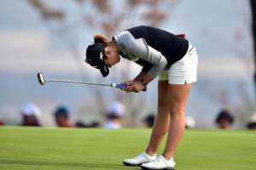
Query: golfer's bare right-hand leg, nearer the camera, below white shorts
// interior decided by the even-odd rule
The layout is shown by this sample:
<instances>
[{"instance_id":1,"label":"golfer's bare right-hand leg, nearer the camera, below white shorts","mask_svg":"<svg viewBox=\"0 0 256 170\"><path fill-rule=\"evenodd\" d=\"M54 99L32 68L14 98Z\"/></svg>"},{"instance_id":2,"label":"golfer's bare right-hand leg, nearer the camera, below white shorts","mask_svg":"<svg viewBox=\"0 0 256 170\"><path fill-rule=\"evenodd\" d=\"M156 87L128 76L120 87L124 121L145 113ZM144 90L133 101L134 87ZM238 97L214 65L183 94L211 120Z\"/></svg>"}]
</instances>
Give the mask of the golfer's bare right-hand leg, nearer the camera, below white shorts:
<instances>
[{"instance_id":1,"label":"golfer's bare right-hand leg, nearer the camera, below white shorts","mask_svg":"<svg viewBox=\"0 0 256 170\"><path fill-rule=\"evenodd\" d=\"M166 148L162 154L166 160L174 156L177 144L183 136L185 128L185 108L189 98L191 84L169 84L168 103L169 112L172 116L168 131Z\"/></svg>"}]
</instances>

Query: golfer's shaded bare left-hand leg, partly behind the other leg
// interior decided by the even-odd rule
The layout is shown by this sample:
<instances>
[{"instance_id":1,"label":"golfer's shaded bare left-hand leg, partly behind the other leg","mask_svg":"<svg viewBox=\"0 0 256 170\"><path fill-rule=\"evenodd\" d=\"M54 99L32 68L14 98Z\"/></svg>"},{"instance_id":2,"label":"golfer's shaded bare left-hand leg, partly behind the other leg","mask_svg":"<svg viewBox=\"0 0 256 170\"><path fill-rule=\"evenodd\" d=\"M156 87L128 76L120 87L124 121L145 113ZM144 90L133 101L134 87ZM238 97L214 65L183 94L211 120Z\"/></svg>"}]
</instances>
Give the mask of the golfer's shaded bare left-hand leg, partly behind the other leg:
<instances>
[{"instance_id":1,"label":"golfer's shaded bare left-hand leg, partly behind the other leg","mask_svg":"<svg viewBox=\"0 0 256 170\"><path fill-rule=\"evenodd\" d=\"M158 82L158 113L154 120L146 153L153 155L157 153L162 139L165 137L170 123L170 114L168 109L168 81Z\"/></svg>"}]
</instances>

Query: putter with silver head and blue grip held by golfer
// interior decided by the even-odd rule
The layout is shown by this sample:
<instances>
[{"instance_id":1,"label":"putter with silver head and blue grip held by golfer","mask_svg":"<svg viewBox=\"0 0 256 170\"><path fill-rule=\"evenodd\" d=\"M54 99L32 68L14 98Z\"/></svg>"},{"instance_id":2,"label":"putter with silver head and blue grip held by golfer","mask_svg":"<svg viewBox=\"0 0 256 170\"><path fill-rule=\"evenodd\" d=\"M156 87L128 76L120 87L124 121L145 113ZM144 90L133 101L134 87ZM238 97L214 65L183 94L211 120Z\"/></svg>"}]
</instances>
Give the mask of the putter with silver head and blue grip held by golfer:
<instances>
[{"instance_id":1,"label":"putter with silver head and blue grip held by golfer","mask_svg":"<svg viewBox=\"0 0 256 170\"><path fill-rule=\"evenodd\" d=\"M115 84L115 83L101 83L101 82L76 82L76 81L67 81L67 80L44 80L43 74L38 72L38 82L41 85L44 85L45 82L73 82L80 84L90 84L90 85L98 85L98 86L110 86L112 88L127 88L126 84ZM147 87L143 88L143 92L147 91Z\"/></svg>"}]
</instances>

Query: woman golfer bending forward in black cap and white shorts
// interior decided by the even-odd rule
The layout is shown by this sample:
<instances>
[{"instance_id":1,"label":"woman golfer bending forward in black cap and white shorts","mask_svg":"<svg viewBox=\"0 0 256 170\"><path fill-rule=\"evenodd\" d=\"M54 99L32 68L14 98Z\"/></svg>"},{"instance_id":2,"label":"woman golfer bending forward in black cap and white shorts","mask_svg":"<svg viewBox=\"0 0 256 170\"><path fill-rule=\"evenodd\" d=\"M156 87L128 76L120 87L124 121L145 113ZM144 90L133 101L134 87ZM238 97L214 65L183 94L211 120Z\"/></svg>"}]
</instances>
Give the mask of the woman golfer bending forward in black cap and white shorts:
<instances>
[{"instance_id":1,"label":"woman golfer bending forward in black cap and white shorts","mask_svg":"<svg viewBox=\"0 0 256 170\"><path fill-rule=\"evenodd\" d=\"M95 44L88 46L85 61L108 76L108 67L119 63L120 57L142 65L142 71L132 81L122 82L127 93L140 92L155 77L158 82L158 113L147 149L126 166L143 169L174 169L173 156L185 128L185 107L191 83L196 82L197 54L188 40L149 26L137 26L108 38L96 34ZM166 147L156 157L168 132Z\"/></svg>"}]
</instances>

